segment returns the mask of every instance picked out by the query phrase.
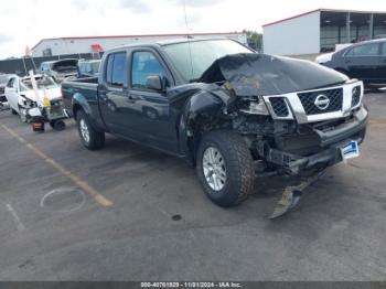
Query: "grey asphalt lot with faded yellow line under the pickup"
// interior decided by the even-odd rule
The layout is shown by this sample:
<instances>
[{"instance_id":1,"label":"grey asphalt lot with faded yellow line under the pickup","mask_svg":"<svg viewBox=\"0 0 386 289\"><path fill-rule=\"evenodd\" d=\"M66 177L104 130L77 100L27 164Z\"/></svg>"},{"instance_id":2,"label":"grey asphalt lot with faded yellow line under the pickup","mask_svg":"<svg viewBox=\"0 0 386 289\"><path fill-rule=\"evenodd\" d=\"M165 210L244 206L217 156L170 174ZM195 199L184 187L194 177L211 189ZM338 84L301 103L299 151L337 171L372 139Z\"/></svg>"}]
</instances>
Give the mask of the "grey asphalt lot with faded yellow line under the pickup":
<instances>
[{"instance_id":1,"label":"grey asphalt lot with faded yellow line under the pickup","mask_svg":"<svg viewBox=\"0 0 386 289\"><path fill-rule=\"evenodd\" d=\"M386 94L365 98L361 158L276 221L282 178L224 210L183 160L115 137L90 152L73 120L35 135L2 111L0 279L386 280Z\"/></svg>"}]
</instances>

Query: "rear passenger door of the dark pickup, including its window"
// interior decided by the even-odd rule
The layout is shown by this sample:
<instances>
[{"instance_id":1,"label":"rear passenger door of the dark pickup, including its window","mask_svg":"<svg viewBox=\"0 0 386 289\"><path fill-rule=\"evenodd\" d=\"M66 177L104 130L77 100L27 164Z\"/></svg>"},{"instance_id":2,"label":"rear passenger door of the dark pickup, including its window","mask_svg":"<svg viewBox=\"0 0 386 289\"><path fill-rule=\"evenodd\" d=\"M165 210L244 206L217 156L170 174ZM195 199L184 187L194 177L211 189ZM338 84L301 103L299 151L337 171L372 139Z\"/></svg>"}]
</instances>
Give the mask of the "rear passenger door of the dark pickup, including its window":
<instances>
[{"instance_id":1,"label":"rear passenger door of the dark pickup, including its window","mask_svg":"<svg viewBox=\"0 0 386 289\"><path fill-rule=\"evenodd\" d=\"M99 83L98 99L100 114L107 128L122 136L127 130L125 107L128 99L128 58L126 51L110 53L105 63L104 78Z\"/></svg>"}]
</instances>

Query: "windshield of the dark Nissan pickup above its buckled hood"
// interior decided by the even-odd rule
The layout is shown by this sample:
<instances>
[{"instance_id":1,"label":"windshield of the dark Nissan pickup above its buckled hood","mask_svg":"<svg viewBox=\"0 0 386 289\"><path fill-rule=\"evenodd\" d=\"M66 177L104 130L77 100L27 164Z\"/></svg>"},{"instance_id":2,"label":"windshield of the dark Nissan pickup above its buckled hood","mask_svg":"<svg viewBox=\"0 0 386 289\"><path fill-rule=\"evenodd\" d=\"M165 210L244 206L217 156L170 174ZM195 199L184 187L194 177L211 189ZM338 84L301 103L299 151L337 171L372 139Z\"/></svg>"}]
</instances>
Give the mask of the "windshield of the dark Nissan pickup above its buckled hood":
<instances>
[{"instance_id":1,"label":"windshield of the dark Nissan pickup above its buckled hood","mask_svg":"<svg viewBox=\"0 0 386 289\"><path fill-rule=\"evenodd\" d=\"M168 44L163 49L186 81L199 78L216 60L225 55L253 53L232 40L192 41Z\"/></svg>"}]
</instances>

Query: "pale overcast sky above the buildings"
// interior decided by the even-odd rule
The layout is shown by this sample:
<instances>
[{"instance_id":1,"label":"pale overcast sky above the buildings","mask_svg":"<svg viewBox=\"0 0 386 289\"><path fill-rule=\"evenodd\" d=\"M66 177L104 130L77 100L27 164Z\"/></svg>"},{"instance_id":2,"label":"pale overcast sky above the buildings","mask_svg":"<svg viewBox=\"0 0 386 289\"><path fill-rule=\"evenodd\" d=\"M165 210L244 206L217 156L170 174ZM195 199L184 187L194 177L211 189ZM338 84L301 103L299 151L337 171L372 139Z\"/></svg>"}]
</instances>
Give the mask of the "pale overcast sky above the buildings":
<instances>
[{"instance_id":1,"label":"pale overcast sky above the buildings","mask_svg":"<svg viewBox=\"0 0 386 289\"><path fill-rule=\"evenodd\" d=\"M262 31L318 8L386 11L385 0L0 0L0 58L63 36Z\"/></svg>"}]
</instances>

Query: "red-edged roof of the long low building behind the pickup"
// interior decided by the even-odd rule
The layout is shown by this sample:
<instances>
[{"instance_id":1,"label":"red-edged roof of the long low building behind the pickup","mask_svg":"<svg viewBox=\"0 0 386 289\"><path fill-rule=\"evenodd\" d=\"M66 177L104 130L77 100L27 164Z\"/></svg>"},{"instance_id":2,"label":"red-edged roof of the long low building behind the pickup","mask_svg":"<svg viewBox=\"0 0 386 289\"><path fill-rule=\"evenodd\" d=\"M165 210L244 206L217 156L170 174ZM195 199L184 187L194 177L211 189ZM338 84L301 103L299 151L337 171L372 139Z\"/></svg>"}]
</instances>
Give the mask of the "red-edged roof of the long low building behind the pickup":
<instances>
[{"instance_id":1,"label":"red-edged roof of the long low building behind the pickup","mask_svg":"<svg viewBox=\"0 0 386 289\"><path fill-rule=\"evenodd\" d=\"M203 35L240 35L245 34L244 32L204 32L204 33L170 33L170 34L137 34L137 35L96 35L96 36L65 36L65 38L52 38L52 39L42 39L39 41L31 50L34 50L44 41L51 40L87 40L87 39L135 39L135 38L173 38L173 36L203 36Z\"/></svg>"}]
</instances>

